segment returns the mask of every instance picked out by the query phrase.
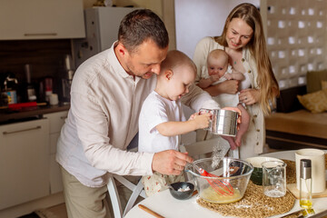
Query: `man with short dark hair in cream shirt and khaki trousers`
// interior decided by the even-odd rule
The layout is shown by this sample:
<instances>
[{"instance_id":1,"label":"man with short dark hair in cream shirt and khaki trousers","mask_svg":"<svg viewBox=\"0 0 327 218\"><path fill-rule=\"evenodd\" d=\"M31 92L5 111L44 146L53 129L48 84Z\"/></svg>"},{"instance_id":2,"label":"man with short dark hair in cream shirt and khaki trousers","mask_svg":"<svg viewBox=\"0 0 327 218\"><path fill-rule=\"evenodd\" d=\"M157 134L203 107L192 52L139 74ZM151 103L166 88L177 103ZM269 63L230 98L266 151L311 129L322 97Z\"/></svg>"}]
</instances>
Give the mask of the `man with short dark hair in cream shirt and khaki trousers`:
<instances>
[{"instance_id":1,"label":"man with short dark hair in cream shirt and khaki trousers","mask_svg":"<svg viewBox=\"0 0 327 218\"><path fill-rule=\"evenodd\" d=\"M109 173L179 174L187 154L167 150L156 154L126 152L138 132L144 99L154 89L168 50L162 20L147 9L126 15L118 41L86 60L74 74L71 108L57 146L69 217L108 217L104 206ZM218 105L193 85L185 103L199 110ZM151 108L149 108L151 110Z\"/></svg>"}]
</instances>

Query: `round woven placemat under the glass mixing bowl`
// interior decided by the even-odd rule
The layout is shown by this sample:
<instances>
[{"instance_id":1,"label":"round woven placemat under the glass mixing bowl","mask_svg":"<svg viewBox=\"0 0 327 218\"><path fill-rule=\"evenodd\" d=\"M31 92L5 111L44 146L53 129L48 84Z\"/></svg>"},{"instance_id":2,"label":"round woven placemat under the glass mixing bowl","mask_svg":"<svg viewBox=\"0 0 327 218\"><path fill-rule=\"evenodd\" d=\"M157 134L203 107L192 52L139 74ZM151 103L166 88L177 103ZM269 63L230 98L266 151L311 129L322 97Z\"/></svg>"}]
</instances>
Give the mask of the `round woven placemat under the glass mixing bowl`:
<instances>
[{"instance_id":1,"label":"round woven placemat under the glass mixing bowl","mask_svg":"<svg viewBox=\"0 0 327 218\"><path fill-rule=\"evenodd\" d=\"M200 197L196 202L226 216L262 218L289 212L294 205L295 198L288 191L280 198L267 197L263 194L263 186L249 181L243 199L236 203L210 203Z\"/></svg>"}]
</instances>

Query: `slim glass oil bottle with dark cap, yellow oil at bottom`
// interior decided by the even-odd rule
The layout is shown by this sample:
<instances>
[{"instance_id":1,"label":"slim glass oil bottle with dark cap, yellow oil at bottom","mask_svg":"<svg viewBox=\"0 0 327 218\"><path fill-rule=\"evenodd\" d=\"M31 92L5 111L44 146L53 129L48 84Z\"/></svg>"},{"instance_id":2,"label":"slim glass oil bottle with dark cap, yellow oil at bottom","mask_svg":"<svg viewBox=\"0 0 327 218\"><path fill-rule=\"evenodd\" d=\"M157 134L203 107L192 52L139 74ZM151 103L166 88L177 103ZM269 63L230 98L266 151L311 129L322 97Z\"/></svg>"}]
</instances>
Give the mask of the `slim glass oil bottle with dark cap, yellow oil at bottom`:
<instances>
[{"instance_id":1,"label":"slim glass oil bottle with dark cap, yellow oil at bottom","mask_svg":"<svg viewBox=\"0 0 327 218\"><path fill-rule=\"evenodd\" d=\"M300 162L300 206L312 208L312 162L309 159Z\"/></svg>"}]
</instances>

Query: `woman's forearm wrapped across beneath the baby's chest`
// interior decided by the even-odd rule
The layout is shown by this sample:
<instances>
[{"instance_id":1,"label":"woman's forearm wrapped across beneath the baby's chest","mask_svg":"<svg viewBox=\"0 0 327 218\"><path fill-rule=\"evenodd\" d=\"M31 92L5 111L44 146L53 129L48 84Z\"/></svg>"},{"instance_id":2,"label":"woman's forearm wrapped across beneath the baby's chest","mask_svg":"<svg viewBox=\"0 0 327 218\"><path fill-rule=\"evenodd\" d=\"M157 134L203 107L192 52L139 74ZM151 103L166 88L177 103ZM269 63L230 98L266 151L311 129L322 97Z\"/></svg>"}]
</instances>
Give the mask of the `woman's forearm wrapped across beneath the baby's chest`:
<instances>
[{"instance_id":1,"label":"woman's forearm wrapped across beneath the baby's chest","mask_svg":"<svg viewBox=\"0 0 327 218\"><path fill-rule=\"evenodd\" d=\"M203 90L212 96L218 94L236 94L239 86L238 80L227 80L220 84L211 85Z\"/></svg>"}]
</instances>

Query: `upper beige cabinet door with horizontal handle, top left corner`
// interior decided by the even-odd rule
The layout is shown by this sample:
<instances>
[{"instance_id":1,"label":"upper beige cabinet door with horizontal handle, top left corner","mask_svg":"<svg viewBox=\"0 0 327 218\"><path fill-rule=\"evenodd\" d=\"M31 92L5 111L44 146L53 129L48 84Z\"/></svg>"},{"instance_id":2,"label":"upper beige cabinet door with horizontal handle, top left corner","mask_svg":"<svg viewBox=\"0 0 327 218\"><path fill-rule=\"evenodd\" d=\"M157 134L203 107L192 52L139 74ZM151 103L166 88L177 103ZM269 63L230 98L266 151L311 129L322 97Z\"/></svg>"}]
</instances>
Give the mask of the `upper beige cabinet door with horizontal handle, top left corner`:
<instances>
[{"instance_id":1,"label":"upper beige cabinet door with horizontal handle, top left corner","mask_svg":"<svg viewBox=\"0 0 327 218\"><path fill-rule=\"evenodd\" d=\"M83 0L1 0L0 40L83 38Z\"/></svg>"}]
</instances>

